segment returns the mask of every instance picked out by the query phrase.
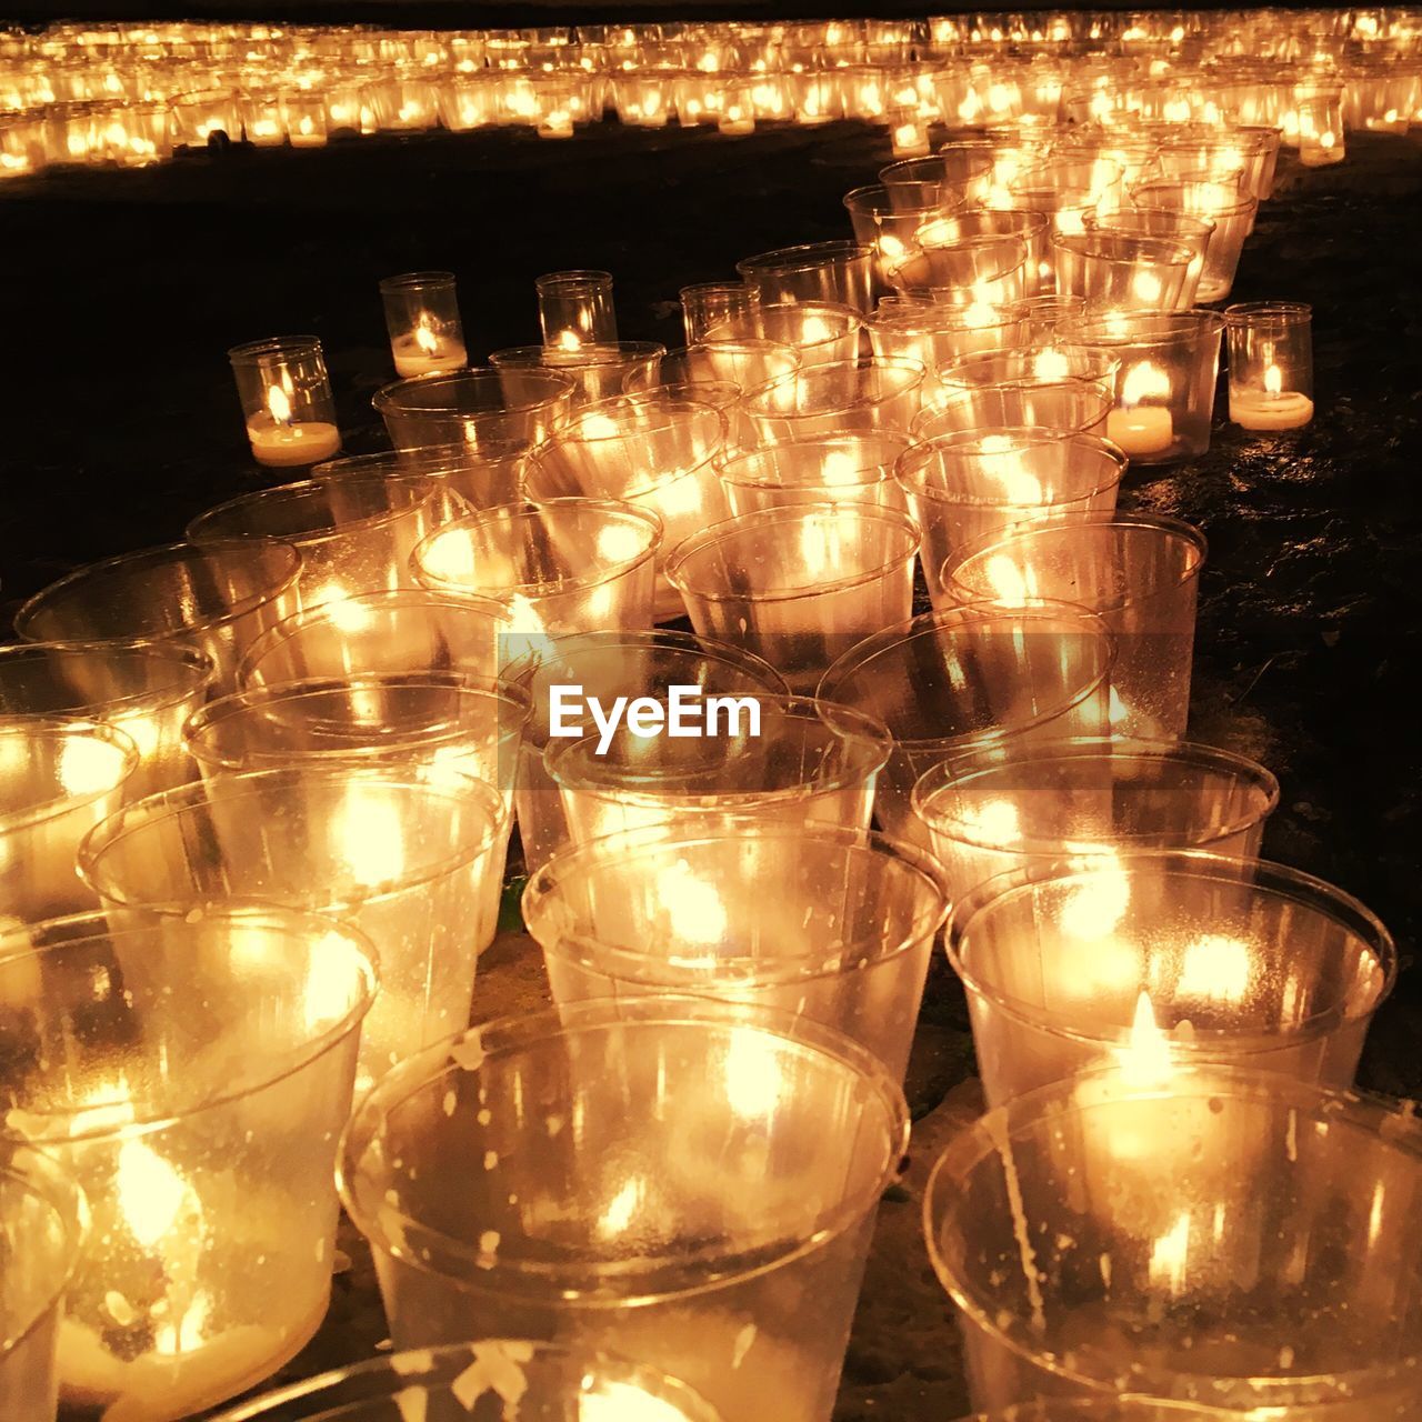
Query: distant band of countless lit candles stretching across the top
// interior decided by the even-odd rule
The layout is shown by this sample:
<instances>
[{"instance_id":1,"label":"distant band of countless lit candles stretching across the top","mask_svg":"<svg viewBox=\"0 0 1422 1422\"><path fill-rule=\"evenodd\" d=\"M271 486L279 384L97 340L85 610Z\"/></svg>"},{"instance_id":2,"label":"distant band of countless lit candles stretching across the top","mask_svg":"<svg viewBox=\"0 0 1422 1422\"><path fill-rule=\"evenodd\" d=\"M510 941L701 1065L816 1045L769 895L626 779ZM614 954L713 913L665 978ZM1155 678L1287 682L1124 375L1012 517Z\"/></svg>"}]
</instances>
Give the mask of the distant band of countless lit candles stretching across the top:
<instances>
[{"instance_id":1,"label":"distant band of countless lit candles stretching across the top","mask_svg":"<svg viewBox=\"0 0 1422 1422\"><path fill-rule=\"evenodd\" d=\"M1422 121L1415 11L1041 13L813 24L384 31L166 24L0 34L0 178L144 166L219 138L859 118L904 154L929 125L1277 125L1341 156L1344 127Z\"/></svg>"}]
</instances>

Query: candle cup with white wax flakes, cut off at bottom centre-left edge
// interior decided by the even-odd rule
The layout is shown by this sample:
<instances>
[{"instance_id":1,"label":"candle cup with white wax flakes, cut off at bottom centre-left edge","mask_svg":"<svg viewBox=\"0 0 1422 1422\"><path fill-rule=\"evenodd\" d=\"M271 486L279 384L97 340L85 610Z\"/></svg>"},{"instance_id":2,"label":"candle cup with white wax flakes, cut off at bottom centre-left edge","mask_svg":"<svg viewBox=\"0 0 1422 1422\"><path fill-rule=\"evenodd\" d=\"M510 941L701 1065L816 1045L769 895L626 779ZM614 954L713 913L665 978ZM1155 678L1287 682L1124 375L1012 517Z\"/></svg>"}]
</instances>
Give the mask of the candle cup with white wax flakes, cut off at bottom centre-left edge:
<instances>
[{"instance_id":1,"label":"candle cup with white wax flakes, cut off at bottom centre-left edge","mask_svg":"<svg viewBox=\"0 0 1422 1422\"><path fill-rule=\"evenodd\" d=\"M471 1398L475 1388L478 1396ZM373 1358L242 1402L212 1422L331 1422L337 1416L402 1422L410 1413L456 1416L455 1408L474 1418L483 1413L485 1399L495 1416L509 1422L515 1411L547 1422L721 1422L685 1384L656 1368L522 1338L482 1338Z\"/></svg>"}]
</instances>

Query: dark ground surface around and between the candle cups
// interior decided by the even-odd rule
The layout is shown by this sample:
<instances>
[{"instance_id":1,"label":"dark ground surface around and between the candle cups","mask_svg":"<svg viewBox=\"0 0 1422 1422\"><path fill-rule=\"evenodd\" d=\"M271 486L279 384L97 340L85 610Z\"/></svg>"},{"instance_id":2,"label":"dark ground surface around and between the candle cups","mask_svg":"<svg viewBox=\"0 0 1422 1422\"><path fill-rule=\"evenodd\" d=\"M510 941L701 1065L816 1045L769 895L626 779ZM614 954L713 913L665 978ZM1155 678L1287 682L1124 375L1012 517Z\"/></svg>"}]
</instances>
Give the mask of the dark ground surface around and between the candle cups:
<instances>
[{"instance_id":1,"label":"dark ground surface around and between the candle cups","mask_svg":"<svg viewBox=\"0 0 1422 1422\"><path fill-rule=\"evenodd\" d=\"M1123 503L1210 540L1193 734L1270 765L1283 801L1270 857L1376 910L1404 971L1362 1081L1422 1091L1422 146L1351 137L1348 162L1288 161L1250 239L1234 299L1311 301L1314 424L1132 474ZM675 293L737 257L848 235L839 198L887 161L883 135L594 129L367 139L319 152L202 155L148 172L48 175L0 189L7 279L0 614L80 563L176 538L202 508L267 481L249 462L225 351L316 331L350 451L378 447L371 392L390 378L375 283L458 273L471 354L536 340L533 277L616 274L626 337L680 343ZM481 968L479 1014L536 1000L519 936ZM919 1234L933 1142L971 1072L961 998L936 966L910 1095L921 1119L907 1189L880 1214L838 1422L944 1422L964 1411L957 1341ZM331 1315L284 1374L370 1355L384 1338L374 1277L351 1266ZM745 1422L745 1419L728 1419Z\"/></svg>"}]
</instances>

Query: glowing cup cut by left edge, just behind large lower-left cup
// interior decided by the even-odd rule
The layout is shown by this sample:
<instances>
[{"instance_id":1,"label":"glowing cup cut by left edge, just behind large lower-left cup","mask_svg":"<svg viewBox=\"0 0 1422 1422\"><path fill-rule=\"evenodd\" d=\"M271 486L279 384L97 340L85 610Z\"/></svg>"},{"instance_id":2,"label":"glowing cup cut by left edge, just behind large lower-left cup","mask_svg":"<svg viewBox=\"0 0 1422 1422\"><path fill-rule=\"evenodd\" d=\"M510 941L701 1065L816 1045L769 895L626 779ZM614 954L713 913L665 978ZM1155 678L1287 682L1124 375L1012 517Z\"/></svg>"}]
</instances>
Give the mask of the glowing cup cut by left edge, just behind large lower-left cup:
<instances>
[{"instance_id":1,"label":"glowing cup cut by left edge, just behind large lower-left cup","mask_svg":"<svg viewBox=\"0 0 1422 1422\"><path fill-rule=\"evenodd\" d=\"M74 870L84 836L128 798L138 748L98 721L0 721L0 923L94 907Z\"/></svg>"}]
</instances>

